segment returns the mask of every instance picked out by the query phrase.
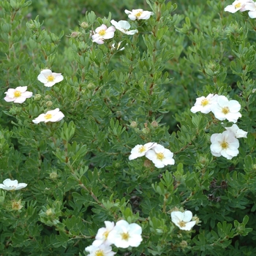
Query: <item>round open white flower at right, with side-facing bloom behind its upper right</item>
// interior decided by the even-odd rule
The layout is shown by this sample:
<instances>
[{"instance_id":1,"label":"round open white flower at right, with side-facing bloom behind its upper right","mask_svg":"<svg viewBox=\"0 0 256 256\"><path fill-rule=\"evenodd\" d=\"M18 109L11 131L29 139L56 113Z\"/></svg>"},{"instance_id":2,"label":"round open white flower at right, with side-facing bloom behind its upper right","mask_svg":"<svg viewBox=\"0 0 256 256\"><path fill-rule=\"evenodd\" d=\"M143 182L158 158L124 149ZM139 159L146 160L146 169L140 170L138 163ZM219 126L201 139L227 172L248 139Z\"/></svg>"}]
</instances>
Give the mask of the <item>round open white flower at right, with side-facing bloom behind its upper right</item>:
<instances>
[{"instance_id":1,"label":"round open white flower at right, with side-facing bloom behind its upper right","mask_svg":"<svg viewBox=\"0 0 256 256\"><path fill-rule=\"evenodd\" d=\"M239 141L230 130L211 135L211 154L232 159L239 153Z\"/></svg>"}]
</instances>

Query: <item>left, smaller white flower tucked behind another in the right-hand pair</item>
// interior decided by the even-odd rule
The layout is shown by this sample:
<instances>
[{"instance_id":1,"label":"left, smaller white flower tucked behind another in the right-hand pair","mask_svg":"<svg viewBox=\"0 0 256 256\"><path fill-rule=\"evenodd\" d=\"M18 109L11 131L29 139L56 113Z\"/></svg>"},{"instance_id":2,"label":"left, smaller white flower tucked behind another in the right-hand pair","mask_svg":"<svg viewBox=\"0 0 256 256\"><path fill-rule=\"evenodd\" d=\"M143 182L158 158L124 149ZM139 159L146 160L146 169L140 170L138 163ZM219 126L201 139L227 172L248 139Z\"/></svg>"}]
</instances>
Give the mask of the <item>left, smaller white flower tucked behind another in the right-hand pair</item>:
<instances>
[{"instance_id":1,"label":"left, smaller white flower tucked behind another in the right-hand pair","mask_svg":"<svg viewBox=\"0 0 256 256\"><path fill-rule=\"evenodd\" d=\"M190 109L192 113L200 111L207 114L211 112L211 104L217 100L218 94L208 94L207 97L199 97L195 101L195 105Z\"/></svg>"}]
</instances>

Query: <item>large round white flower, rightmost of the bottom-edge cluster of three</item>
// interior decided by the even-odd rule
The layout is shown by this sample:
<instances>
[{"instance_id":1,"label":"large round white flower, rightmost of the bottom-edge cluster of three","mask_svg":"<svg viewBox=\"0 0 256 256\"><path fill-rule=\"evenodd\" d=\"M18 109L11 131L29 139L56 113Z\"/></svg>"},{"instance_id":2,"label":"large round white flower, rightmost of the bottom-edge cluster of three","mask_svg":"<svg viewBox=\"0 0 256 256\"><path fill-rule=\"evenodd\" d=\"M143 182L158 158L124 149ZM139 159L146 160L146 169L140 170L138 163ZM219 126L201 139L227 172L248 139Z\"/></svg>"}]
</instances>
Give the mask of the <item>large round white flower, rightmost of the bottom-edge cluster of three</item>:
<instances>
[{"instance_id":1,"label":"large round white flower, rightmost of the bottom-edge cluster of three","mask_svg":"<svg viewBox=\"0 0 256 256\"><path fill-rule=\"evenodd\" d=\"M129 224L124 219L116 222L116 226L108 234L109 241L116 247L138 247L142 241L142 228L136 223Z\"/></svg>"}]
</instances>

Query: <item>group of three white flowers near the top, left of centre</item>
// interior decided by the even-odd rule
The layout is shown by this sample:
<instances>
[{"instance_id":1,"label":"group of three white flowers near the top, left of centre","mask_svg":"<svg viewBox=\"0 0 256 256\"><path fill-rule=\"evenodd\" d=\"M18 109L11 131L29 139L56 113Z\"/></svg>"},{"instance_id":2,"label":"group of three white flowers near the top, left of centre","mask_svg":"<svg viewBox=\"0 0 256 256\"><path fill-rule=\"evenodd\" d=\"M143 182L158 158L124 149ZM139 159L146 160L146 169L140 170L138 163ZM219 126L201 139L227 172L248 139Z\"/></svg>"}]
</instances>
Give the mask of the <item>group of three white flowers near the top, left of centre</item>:
<instances>
[{"instance_id":1,"label":"group of three white flowers near the top, left of centre","mask_svg":"<svg viewBox=\"0 0 256 256\"><path fill-rule=\"evenodd\" d=\"M150 16L153 15L153 12L143 11L142 9L132 11L125 10L124 12L127 13L130 20L148 20ZM116 20L111 20L110 23L113 26L108 28L105 24L102 24L97 27L95 31L92 31L92 42L96 42L99 45L104 44L105 39L111 39L114 37L116 29L129 35L138 33L138 29L129 30L131 25L126 20L119 20L118 22Z\"/></svg>"}]
</instances>

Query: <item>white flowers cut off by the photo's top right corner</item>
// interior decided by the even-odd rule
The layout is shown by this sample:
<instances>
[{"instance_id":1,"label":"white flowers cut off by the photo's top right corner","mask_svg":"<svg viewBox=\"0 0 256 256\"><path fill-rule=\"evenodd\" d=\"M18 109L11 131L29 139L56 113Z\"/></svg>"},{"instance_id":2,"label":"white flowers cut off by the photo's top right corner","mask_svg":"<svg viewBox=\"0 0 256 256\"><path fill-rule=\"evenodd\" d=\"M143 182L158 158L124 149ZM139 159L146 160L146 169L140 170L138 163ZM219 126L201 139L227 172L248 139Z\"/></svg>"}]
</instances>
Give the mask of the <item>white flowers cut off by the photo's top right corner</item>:
<instances>
[{"instance_id":1,"label":"white flowers cut off by the photo's top right corner","mask_svg":"<svg viewBox=\"0 0 256 256\"><path fill-rule=\"evenodd\" d=\"M224 10L231 13L249 11L249 18L256 18L256 3L252 0L236 0L233 4L227 5Z\"/></svg>"}]
</instances>

